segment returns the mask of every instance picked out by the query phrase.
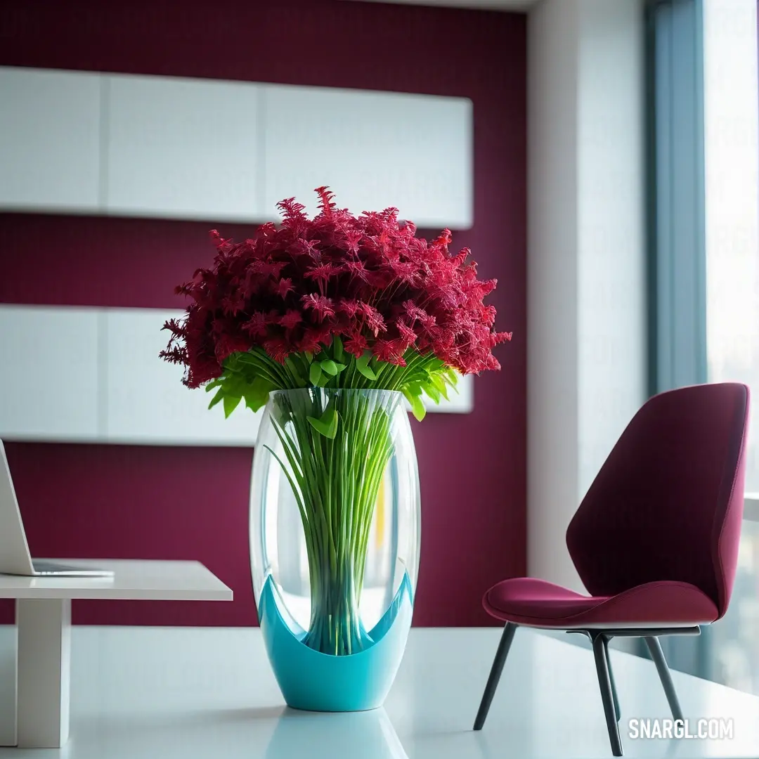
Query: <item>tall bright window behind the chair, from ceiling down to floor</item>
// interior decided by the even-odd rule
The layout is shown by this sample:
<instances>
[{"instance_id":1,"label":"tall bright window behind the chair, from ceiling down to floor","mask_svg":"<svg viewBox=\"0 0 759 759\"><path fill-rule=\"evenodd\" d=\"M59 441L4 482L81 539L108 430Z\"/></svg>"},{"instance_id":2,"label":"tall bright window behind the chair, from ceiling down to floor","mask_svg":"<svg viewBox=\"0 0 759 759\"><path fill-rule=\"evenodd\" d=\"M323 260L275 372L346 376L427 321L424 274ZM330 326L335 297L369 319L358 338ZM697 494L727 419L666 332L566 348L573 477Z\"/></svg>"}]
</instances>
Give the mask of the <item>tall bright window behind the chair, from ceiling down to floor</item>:
<instances>
[{"instance_id":1,"label":"tall bright window behind the chair, from ceiling down to floor","mask_svg":"<svg viewBox=\"0 0 759 759\"><path fill-rule=\"evenodd\" d=\"M725 619L709 636L709 674L759 694L759 68L755 2L704 0L704 220L710 382L753 390L747 504Z\"/></svg>"}]
</instances>

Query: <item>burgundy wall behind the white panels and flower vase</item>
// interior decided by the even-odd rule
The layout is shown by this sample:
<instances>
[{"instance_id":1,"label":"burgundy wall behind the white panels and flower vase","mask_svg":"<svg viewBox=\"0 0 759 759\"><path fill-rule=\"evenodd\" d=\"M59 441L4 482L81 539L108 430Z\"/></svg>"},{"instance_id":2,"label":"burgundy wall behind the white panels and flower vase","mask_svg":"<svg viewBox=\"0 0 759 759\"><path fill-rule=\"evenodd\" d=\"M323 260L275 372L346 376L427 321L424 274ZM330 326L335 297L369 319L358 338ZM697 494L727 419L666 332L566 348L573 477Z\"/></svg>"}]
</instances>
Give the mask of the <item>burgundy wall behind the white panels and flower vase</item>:
<instances>
[{"instance_id":1,"label":"burgundy wall behind the white panels and flower vase","mask_svg":"<svg viewBox=\"0 0 759 759\"><path fill-rule=\"evenodd\" d=\"M514 341L496 352L502 371L477 380L473 414L430 414L414 423L423 503L417 625L487 624L483 591L526 567L525 53L518 14L341 0L2 3L2 65L474 101L475 226L454 241L472 248L481 276L499 279L490 302L497 326L513 330ZM172 288L210 260L211 226L210 219L0 215L0 302L181 306ZM221 228L241 234L235 225ZM55 380L43 356L39 367L24 370L52 370ZM250 452L42 443L7 449L34 555L199 559L235 591L233 603L80 601L74 622L255 624ZM10 619L8 606L0 612Z\"/></svg>"}]
</instances>

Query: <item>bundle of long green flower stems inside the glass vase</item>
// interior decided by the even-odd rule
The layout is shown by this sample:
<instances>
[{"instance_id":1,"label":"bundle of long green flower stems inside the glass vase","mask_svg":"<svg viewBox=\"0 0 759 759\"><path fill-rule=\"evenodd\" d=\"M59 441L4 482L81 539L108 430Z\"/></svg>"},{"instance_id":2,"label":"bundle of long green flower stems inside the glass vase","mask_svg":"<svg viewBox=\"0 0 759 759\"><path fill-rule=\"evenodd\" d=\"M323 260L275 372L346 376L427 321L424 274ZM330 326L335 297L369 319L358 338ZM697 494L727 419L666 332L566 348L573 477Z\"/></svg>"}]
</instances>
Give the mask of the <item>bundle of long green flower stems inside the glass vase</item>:
<instances>
[{"instance_id":1,"label":"bundle of long green flower stems inside the glass vase","mask_svg":"<svg viewBox=\"0 0 759 759\"><path fill-rule=\"evenodd\" d=\"M299 504L309 563L311 618L304 643L322 653L357 653L370 642L358 609L399 402L397 395L361 391L275 396L274 423L287 459L279 462ZM308 422L329 405L342 428L334 439Z\"/></svg>"}]
</instances>

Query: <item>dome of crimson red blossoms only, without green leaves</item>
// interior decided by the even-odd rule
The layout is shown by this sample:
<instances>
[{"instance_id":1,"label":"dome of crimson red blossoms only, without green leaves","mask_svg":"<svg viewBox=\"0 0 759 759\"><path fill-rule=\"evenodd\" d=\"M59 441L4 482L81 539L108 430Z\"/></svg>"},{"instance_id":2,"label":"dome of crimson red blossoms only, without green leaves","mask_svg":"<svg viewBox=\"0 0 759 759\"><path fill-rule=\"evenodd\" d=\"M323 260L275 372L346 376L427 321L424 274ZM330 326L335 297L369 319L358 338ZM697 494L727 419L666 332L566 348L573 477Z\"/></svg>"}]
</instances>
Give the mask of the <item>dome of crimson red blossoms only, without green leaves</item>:
<instances>
[{"instance_id":1,"label":"dome of crimson red blossoms only, without green leaves","mask_svg":"<svg viewBox=\"0 0 759 759\"><path fill-rule=\"evenodd\" d=\"M309 219L294 198L279 203L279 228L262 225L235 243L211 233L213 269L198 269L177 292L193 299L187 316L166 329L161 356L184 364L197 387L222 374L236 351L261 346L276 361L330 345L340 335L356 357L404 364L414 348L461 373L499 369L491 349L511 332L493 332L496 310L483 298L496 280L477 279L468 249L449 254L446 229L431 242L415 236L396 209L358 218L317 189L320 213Z\"/></svg>"}]
</instances>

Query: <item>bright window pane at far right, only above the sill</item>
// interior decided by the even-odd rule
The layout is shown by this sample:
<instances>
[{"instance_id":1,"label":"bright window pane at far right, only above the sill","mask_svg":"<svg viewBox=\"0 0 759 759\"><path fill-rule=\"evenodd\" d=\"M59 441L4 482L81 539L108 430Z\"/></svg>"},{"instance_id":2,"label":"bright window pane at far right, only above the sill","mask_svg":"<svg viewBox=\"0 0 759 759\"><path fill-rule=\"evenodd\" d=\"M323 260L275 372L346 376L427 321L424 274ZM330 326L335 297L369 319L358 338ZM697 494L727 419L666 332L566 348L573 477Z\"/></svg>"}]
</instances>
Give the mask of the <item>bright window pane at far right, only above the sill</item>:
<instances>
[{"instance_id":1,"label":"bright window pane at far right, only above the sill","mask_svg":"<svg viewBox=\"0 0 759 759\"><path fill-rule=\"evenodd\" d=\"M704 3L707 373L753 390L746 489L759 491L757 14Z\"/></svg>"}]
</instances>

